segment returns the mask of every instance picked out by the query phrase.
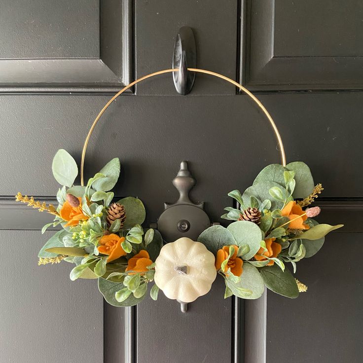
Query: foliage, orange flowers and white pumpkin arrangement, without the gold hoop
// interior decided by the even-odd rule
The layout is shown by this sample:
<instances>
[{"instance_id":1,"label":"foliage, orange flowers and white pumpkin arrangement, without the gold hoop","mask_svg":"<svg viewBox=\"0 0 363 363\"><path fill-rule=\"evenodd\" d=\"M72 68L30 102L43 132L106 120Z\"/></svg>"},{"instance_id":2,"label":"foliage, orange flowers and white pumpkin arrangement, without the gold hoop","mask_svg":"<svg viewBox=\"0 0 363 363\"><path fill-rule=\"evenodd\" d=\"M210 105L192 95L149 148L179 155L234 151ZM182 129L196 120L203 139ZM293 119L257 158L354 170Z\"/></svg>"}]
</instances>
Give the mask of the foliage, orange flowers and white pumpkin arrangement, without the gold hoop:
<instances>
[{"instance_id":1,"label":"foliage, orange flowers and white pumpkin arrangement, without the gold hoop","mask_svg":"<svg viewBox=\"0 0 363 363\"><path fill-rule=\"evenodd\" d=\"M84 186L73 184L78 167L64 149L54 156L52 171L61 184L57 207L16 195L17 201L54 216L42 233L62 227L40 250L38 264L74 264L71 280L98 279L99 290L114 306L140 303L149 283L152 299L160 289L168 298L188 303L208 293L217 274L224 278L225 298L256 299L265 286L295 298L307 289L293 276L297 262L316 254L325 235L342 226L313 219L320 208L310 205L323 187L314 186L309 167L300 161L268 165L243 193L228 193L238 207L225 208L221 218L232 221L226 228L215 225L198 241L184 237L165 245L156 229L142 227L140 199L114 201L110 190L119 178L118 158Z\"/></svg>"}]
</instances>

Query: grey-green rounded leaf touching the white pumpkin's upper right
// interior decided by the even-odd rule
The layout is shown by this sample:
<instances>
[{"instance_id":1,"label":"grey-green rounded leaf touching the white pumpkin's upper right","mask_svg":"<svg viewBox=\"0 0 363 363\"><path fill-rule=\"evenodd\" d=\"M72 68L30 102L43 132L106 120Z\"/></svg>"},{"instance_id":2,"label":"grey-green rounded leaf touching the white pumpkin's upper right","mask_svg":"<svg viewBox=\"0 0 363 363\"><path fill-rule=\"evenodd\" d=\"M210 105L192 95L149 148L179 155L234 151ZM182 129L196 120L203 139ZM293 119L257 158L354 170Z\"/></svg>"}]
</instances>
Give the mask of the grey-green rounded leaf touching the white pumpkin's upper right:
<instances>
[{"instance_id":1,"label":"grey-green rounded leaf touching the white pumpkin's upper right","mask_svg":"<svg viewBox=\"0 0 363 363\"><path fill-rule=\"evenodd\" d=\"M211 251L214 255L217 255L217 251L223 246L237 245L231 232L221 225L207 228L198 237L198 242L203 243L207 250Z\"/></svg>"}]
</instances>

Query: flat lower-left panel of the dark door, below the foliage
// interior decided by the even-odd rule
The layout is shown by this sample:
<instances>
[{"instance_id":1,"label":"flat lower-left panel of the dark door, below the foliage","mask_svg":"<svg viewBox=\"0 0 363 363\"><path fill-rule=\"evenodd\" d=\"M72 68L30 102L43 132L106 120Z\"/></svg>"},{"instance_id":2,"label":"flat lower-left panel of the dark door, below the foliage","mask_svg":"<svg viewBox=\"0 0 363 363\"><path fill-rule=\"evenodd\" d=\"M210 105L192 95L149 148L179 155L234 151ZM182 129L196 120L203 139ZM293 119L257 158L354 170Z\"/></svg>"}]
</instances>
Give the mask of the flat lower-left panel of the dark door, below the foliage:
<instances>
[{"instance_id":1,"label":"flat lower-left panel of the dark door, below the foliage","mask_svg":"<svg viewBox=\"0 0 363 363\"><path fill-rule=\"evenodd\" d=\"M36 265L37 252L52 233L0 231L1 362L103 360L103 299L97 284L70 284L68 263Z\"/></svg>"}]
</instances>

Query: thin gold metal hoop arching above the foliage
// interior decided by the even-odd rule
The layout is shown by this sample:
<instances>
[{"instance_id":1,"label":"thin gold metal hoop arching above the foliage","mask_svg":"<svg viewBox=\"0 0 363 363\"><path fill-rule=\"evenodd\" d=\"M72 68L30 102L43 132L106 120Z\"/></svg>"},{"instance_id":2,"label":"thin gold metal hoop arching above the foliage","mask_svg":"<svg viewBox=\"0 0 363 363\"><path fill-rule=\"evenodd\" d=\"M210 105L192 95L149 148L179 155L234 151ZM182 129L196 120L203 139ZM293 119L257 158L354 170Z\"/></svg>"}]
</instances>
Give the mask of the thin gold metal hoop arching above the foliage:
<instances>
[{"instance_id":1,"label":"thin gold metal hoop arching above the foliage","mask_svg":"<svg viewBox=\"0 0 363 363\"><path fill-rule=\"evenodd\" d=\"M205 74L210 74L210 75L214 75L215 77L221 78L226 80L229 83L232 83L233 85L235 85L236 87L238 87L241 91L243 91L244 93L246 93L255 103L256 105L263 111L263 113L266 115L267 119L269 120L272 129L275 132L275 136L276 139L278 141L278 146L280 147L280 156L281 156L281 164L283 166L286 165L286 156L285 156L285 150L284 150L284 145L282 143L281 140L281 136L279 133L279 130L277 129L277 126L274 122L274 120L272 119L271 115L268 113L267 109L265 109L265 107L262 105L262 103L245 87L242 86L242 84L239 84L238 82L234 81L231 78L226 77L225 75L219 74L219 73L215 73L215 72L211 72L211 71L206 71L206 70L201 70L198 68L188 68L188 71L190 72L197 72L197 73L205 73ZM124 88L122 88L119 92L117 92L110 100L109 102L104 106L103 109L101 109L100 113L97 115L97 117L95 118L95 120L92 123L92 126L88 132L88 135L86 137L86 140L84 141L83 144L83 149L82 149L82 156L81 156L81 185L84 185L84 159L86 157L86 151L87 151L87 145L89 142L89 139L91 138L92 132L97 124L97 122L99 121L99 119L101 118L101 116L103 115L103 113L106 111L106 109L109 107L109 105L122 93L124 93L127 89L131 88L133 85L147 79L147 78L151 78L154 77L155 75L159 75L159 74L163 74L163 73L171 73L171 72L179 72L179 69L169 69L169 70L162 70L162 71L158 71L158 72L154 72L154 73L150 73L147 75L144 75L141 78L138 78L136 80L134 80L133 82L131 82L130 84L128 84L127 86L125 86Z\"/></svg>"}]
</instances>

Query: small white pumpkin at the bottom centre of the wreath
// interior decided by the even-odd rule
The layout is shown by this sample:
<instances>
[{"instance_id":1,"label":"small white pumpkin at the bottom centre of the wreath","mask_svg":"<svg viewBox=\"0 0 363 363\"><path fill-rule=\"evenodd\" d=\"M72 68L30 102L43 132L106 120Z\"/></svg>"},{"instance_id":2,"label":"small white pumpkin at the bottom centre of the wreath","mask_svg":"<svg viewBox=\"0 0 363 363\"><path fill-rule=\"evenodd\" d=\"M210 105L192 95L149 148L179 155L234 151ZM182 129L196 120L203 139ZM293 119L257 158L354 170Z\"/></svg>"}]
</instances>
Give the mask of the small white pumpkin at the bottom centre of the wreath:
<instances>
[{"instance_id":1,"label":"small white pumpkin at the bottom centre of the wreath","mask_svg":"<svg viewBox=\"0 0 363 363\"><path fill-rule=\"evenodd\" d=\"M155 261L155 284L166 297L181 302L205 295L216 276L214 254L186 237L163 246Z\"/></svg>"}]
</instances>

